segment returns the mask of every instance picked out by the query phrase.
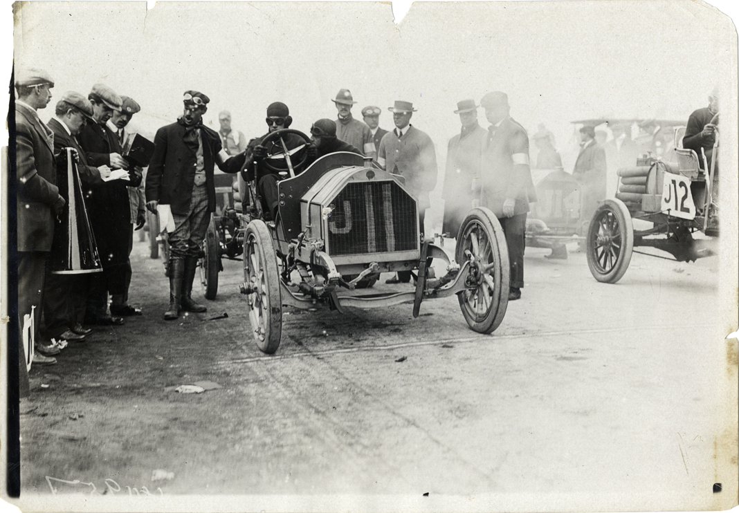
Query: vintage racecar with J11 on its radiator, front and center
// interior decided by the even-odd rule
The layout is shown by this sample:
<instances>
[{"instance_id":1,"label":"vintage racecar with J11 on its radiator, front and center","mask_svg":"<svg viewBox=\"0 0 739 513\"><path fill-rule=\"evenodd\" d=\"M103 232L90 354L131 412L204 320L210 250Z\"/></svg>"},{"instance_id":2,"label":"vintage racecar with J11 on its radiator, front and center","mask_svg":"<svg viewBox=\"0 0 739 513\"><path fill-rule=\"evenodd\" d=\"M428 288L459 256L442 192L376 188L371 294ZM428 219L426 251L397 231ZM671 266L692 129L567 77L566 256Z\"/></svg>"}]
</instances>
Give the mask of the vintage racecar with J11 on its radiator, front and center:
<instances>
[{"instance_id":1,"label":"vintage racecar with J11 on its radiator, front and center","mask_svg":"<svg viewBox=\"0 0 739 513\"><path fill-rule=\"evenodd\" d=\"M424 239L418 225L418 202L403 178L388 173L370 159L338 152L308 165L307 154L280 144L285 129L269 134L263 145L272 151L265 161L270 171L284 173L278 182L279 207L274 220L265 220L256 180L249 183L247 212L222 213L208 230L202 258L206 297L217 282L222 255L243 255L240 292L256 345L274 353L282 337L282 309L328 306L382 308L420 303L457 295L468 325L480 333L500 326L508 307L508 249L503 230L490 210L470 211L460 227L454 255L433 240ZM282 148L279 149L279 148ZM446 273L435 277L439 259ZM381 272L409 270L415 287L388 292L360 291ZM372 292L372 293L369 293Z\"/></svg>"}]
</instances>

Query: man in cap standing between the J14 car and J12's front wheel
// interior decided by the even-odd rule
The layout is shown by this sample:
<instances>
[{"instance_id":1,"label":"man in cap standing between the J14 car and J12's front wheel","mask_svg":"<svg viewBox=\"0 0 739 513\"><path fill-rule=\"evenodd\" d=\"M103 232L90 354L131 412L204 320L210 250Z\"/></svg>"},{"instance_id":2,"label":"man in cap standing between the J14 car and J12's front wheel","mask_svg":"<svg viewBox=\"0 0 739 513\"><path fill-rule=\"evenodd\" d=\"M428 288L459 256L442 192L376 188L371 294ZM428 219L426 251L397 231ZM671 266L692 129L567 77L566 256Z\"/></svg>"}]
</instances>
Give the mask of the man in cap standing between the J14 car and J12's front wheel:
<instances>
[{"instance_id":1,"label":"man in cap standing between the J14 car and J12's front wheel","mask_svg":"<svg viewBox=\"0 0 739 513\"><path fill-rule=\"evenodd\" d=\"M580 196L579 235L588 233L590 218L599 202L605 199L606 158L605 149L596 141L596 129L591 125L580 128L580 153L575 161L572 175L582 186Z\"/></svg>"}]
</instances>

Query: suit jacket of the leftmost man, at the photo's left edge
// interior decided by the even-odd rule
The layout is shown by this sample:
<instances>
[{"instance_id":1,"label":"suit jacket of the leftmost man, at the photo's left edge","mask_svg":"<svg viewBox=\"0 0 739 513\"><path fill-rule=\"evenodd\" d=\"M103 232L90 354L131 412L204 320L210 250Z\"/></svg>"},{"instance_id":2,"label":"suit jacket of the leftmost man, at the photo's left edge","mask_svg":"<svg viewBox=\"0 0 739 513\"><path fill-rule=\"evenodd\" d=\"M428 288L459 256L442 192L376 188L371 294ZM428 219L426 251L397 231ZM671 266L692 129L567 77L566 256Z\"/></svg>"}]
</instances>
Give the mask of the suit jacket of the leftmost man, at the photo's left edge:
<instances>
[{"instance_id":1,"label":"suit jacket of the leftmost man, at the photo's left edge","mask_svg":"<svg viewBox=\"0 0 739 513\"><path fill-rule=\"evenodd\" d=\"M53 206L60 198L56 184L53 133L28 107L16 103L15 154L18 251L50 251L54 238Z\"/></svg>"}]
</instances>

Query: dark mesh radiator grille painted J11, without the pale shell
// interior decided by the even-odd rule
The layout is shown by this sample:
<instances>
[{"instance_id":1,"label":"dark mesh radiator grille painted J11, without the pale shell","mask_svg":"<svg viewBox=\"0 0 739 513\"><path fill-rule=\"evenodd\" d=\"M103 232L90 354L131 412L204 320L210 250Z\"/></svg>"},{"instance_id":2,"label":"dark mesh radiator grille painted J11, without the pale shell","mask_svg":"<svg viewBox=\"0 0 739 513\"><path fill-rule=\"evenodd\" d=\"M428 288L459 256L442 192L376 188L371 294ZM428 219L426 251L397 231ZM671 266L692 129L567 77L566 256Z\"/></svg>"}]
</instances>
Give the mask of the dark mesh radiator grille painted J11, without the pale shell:
<instances>
[{"instance_id":1,"label":"dark mesh radiator grille painted J11, without the pale shell","mask_svg":"<svg viewBox=\"0 0 739 513\"><path fill-rule=\"evenodd\" d=\"M330 255L408 251L418 247L415 201L395 182L347 184L330 206Z\"/></svg>"}]
</instances>

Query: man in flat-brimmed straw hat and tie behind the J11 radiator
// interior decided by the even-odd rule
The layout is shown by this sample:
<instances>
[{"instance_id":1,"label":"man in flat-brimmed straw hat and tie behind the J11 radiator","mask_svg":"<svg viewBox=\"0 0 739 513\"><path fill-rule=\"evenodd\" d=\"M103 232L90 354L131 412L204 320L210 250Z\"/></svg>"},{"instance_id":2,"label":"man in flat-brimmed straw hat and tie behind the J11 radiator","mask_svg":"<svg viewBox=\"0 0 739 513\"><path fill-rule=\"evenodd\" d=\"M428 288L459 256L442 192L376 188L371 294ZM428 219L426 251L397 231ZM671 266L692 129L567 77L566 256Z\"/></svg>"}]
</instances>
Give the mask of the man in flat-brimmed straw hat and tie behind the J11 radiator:
<instances>
[{"instance_id":1,"label":"man in flat-brimmed straw hat and tie behind the J11 radiator","mask_svg":"<svg viewBox=\"0 0 739 513\"><path fill-rule=\"evenodd\" d=\"M418 199L418 227L423 233L426 209L431 206L429 193L436 186L436 150L431 137L410 124L416 111L412 103L396 101L388 110L395 129L382 138L377 162L390 173L405 177L406 188ZM408 283L410 279L410 271L400 271L385 283Z\"/></svg>"}]
</instances>

